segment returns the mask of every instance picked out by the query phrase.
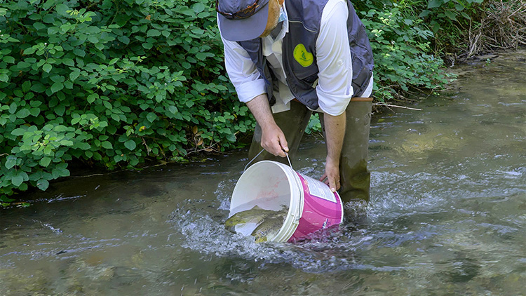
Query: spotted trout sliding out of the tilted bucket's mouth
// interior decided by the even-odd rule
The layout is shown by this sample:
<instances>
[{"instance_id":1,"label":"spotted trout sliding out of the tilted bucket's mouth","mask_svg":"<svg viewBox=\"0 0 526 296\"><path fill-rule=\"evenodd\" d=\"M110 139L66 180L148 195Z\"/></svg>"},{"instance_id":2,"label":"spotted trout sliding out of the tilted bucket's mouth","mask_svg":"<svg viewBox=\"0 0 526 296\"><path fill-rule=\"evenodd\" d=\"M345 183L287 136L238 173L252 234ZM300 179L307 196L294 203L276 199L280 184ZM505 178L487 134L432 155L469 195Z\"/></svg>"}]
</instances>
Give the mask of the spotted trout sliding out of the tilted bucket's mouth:
<instances>
[{"instance_id":1,"label":"spotted trout sliding out of the tilted bucket's mouth","mask_svg":"<svg viewBox=\"0 0 526 296\"><path fill-rule=\"evenodd\" d=\"M255 236L256 243L262 243L278 234L287 212L288 209L285 207L282 210L275 211L264 210L255 206L250 210L243 210L229 217L224 222L224 227L232 232L243 232L239 230L246 226L248 233ZM250 226L252 228L249 228Z\"/></svg>"}]
</instances>

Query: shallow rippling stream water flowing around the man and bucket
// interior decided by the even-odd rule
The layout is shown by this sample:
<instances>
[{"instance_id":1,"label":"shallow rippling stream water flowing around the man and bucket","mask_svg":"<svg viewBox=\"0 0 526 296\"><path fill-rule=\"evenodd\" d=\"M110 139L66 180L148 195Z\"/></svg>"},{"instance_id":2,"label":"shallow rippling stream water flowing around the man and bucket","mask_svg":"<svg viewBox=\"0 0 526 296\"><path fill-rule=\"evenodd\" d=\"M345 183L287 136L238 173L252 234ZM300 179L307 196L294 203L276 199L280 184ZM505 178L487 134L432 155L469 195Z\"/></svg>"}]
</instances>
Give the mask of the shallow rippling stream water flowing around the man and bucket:
<instances>
[{"instance_id":1,"label":"shallow rippling stream water flowing around the man and bucket","mask_svg":"<svg viewBox=\"0 0 526 296\"><path fill-rule=\"evenodd\" d=\"M375 114L363 224L295 245L224 230L245 151L69 177L0 211L0 295L525 295L525 59ZM323 142L299 154L320 177Z\"/></svg>"}]
</instances>

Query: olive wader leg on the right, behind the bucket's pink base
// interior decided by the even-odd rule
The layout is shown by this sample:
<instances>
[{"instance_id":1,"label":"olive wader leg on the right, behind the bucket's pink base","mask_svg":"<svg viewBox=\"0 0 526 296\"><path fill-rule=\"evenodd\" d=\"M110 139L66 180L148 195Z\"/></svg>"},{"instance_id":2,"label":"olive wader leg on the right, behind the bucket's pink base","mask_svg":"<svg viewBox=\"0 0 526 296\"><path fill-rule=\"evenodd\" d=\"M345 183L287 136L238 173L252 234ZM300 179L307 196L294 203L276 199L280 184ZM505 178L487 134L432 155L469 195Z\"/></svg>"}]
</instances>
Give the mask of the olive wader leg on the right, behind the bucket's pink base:
<instances>
[{"instance_id":1,"label":"olive wader leg on the right, behind the bucket's pink base","mask_svg":"<svg viewBox=\"0 0 526 296\"><path fill-rule=\"evenodd\" d=\"M369 128L371 122L371 97L353 97L347 109L344 143L339 157L339 196L344 203L369 201L370 173L367 170ZM322 115L322 114L321 114ZM323 135L325 122L320 116ZM349 205L351 208L355 206Z\"/></svg>"}]
</instances>

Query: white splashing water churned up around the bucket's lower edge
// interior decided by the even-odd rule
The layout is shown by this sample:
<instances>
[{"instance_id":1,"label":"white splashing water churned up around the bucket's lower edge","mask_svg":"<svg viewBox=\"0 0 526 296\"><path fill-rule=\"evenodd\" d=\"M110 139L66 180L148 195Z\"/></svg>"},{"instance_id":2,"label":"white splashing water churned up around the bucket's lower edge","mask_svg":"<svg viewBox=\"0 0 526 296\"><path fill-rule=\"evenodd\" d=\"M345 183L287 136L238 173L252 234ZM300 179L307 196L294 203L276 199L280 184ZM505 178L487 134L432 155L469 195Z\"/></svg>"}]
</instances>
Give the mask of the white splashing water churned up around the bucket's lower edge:
<instances>
[{"instance_id":1,"label":"white splashing water churned up around the bucket's lower edge","mask_svg":"<svg viewBox=\"0 0 526 296\"><path fill-rule=\"evenodd\" d=\"M238 258L264 264L290 264L309 272L325 272L351 269L353 249L368 239L349 239L342 231L326 230L312 241L292 243L255 243L253 236L233 234L224 228L227 211L222 217L205 213L207 202L187 200L177 206L169 222L182 234L182 247L217 257ZM202 207L202 208L201 208ZM246 230L246 229L245 229ZM250 230L250 229L248 229Z\"/></svg>"}]
</instances>

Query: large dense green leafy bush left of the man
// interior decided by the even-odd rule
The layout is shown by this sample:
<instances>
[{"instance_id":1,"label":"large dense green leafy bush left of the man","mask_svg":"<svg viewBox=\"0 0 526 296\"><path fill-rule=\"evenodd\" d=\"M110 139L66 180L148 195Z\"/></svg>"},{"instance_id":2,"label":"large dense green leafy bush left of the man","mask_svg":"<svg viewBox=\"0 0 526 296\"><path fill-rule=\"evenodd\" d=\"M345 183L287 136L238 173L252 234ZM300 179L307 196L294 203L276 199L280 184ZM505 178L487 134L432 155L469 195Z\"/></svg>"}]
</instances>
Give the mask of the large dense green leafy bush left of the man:
<instances>
[{"instance_id":1,"label":"large dense green leafy bush left of the man","mask_svg":"<svg viewBox=\"0 0 526 296\"><path fill-rule=\"evenodd\" d=\"M46 190L71 161L222 152L254 126L224 74L212 1L0 5L0 196Z\"/></svg>"}]
</instances>

